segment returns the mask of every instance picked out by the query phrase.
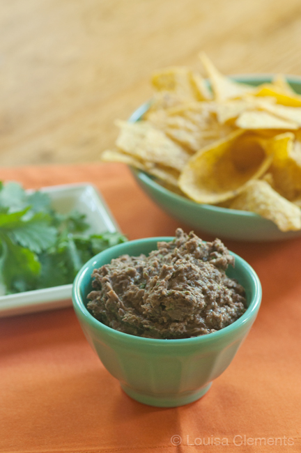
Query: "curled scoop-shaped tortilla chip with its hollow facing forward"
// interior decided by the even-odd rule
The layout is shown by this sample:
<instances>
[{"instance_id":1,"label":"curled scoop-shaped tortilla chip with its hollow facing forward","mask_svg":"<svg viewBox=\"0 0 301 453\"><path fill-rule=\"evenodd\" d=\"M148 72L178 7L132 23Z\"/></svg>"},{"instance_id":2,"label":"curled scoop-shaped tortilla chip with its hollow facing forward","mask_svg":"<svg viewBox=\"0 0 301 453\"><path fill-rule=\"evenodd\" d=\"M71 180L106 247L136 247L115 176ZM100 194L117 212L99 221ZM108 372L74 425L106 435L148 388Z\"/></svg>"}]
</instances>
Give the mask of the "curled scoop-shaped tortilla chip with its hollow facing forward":
<instances>
[{"instance_id":1,"label":"curled scoop-shaped tortilla chip with its hollow facing forward","mask_svg":"<svg viewBox=\"0 0 301 453\"><path fill-rule=\"evenodd\" d=\"M238 130L196 153L180 174L179 187L197 203L221 203L263 175L271 161L261 139Z\"/></svg>"}]
</instances>

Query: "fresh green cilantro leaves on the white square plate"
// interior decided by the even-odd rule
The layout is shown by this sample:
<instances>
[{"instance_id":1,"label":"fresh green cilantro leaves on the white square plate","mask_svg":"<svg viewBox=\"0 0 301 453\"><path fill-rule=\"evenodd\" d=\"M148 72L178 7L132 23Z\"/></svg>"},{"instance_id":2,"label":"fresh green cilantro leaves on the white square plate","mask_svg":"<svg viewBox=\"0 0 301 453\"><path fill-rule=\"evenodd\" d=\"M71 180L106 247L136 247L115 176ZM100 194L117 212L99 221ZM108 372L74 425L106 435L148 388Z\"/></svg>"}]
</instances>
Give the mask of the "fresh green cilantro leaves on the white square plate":
<instances>
[{"instance_id":1,"label":"fresh green cilantro leaves on the white square plate","mask_svg":"<svg viewBox=\"0 0 301 453\"><path fill-rule=\"evenodd\" d=\"M89 235L88 227L84 214L52 209L47 194L0 182L0 288L11 294L72 283L88 259L126 240Z\"/></svg>"}]
</instances>

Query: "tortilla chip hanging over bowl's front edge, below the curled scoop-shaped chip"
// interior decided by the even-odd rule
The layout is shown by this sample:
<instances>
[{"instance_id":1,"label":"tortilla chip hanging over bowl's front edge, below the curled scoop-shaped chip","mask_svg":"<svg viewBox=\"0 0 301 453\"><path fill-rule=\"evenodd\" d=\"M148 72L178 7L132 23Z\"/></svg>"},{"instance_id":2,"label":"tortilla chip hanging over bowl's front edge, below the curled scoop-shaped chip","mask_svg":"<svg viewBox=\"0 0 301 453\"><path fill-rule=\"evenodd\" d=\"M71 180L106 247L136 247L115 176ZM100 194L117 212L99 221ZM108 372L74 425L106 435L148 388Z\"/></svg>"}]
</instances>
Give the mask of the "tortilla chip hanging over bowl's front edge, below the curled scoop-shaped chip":
<instances>
[{"instance_id":1,"label":"tortilla chip hanging over bowl's front edge, below the curled scoop-shaped chip","mask_svg":"<svg viewBox=\"0 0 301 453\"><path fill-rule=\"evenodd\" d=\"M247 210L272 220L281 231L301 229L301 210L281 197L265 181L249 181L230 205L231 209Z\"/></svg>"}]
</instances>

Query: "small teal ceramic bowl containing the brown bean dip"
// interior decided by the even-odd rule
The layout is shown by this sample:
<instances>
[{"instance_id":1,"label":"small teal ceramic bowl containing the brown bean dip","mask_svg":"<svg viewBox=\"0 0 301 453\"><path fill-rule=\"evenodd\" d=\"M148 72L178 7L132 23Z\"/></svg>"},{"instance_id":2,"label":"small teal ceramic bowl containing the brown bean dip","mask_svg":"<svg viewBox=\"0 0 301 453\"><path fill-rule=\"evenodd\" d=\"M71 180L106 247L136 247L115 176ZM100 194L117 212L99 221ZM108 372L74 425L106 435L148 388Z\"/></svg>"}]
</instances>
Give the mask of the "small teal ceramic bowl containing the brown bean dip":
<instances>
[{"instance_id":1,"label":"small teal ceramic bowl containing the brown bean dip","mask_svg":"<svg viewBox=\"0 0 301 453\"><path fill-rule=\"evenodd\" d=\"M236 266L229 268L227 274L245 287L248 308L238 321L217 332L187 339L134 337L107 327L88 312L87 295L94 268L122 254L148 254L157 248L157 241L172 239L132 240L101 252L79 270L72 290L75 313L89 344L123 390L151 406L182 406L202 397L236 355L261 303L261 284L256 273L235 255Z\"/></svg>"}]
</instances>

